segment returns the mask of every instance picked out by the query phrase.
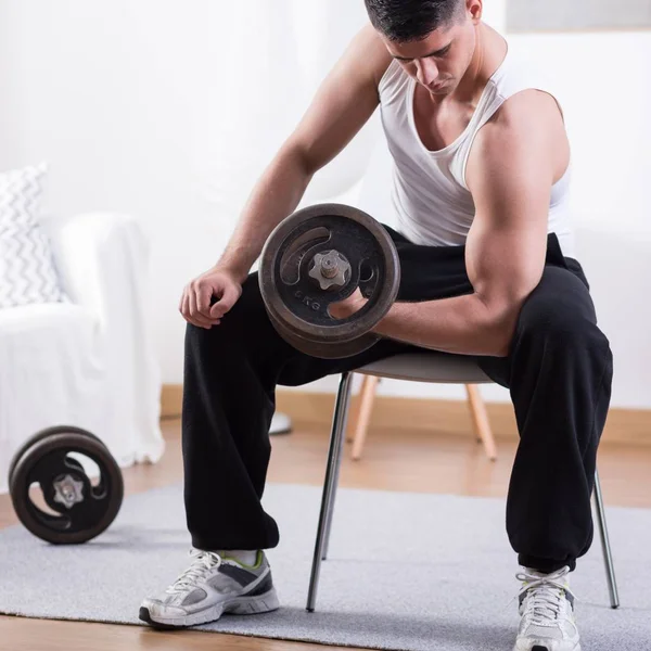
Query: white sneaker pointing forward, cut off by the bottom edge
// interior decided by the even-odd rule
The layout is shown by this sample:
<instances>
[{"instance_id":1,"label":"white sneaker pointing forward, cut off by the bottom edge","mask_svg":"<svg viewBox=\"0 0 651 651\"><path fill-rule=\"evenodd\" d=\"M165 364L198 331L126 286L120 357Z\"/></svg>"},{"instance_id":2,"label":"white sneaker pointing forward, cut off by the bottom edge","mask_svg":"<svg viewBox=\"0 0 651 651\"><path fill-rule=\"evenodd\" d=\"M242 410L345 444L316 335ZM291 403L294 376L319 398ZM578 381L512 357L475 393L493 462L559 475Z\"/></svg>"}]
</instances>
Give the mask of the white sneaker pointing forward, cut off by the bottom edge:
<instances>
[{"instance_id":1,"label":"white sneaker pointing forward, cut off by the bottom edge","mask_svg":"<svg viewBox=\"0 0 651 651\"><path fill-rule=\"evenodd\" d=\"M552 574L525 569L516 578L522 622L513 651L580 651L574 620L574 595L565 566Z\"/></svg>"}]
</instances>

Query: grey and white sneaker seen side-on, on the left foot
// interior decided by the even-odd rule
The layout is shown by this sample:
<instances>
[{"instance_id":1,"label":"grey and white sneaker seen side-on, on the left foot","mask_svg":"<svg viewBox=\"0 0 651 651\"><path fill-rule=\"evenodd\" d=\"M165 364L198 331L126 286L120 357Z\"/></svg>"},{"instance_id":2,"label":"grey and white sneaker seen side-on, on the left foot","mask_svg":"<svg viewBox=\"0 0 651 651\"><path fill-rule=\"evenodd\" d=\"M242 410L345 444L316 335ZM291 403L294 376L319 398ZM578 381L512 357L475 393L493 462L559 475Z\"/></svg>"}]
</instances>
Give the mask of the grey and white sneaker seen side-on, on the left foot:
<instances>
[{"instance_id":1,"label":"grey and white sneaker seen side-on, on the left foot","mask_svg":"<svg viewBox=\"0 0 651 651\"><path fill-rule=\"evenodd\" d=\"M192 564L163 595L148 598L140 618L157 628L195 626L222 613L248 615L278 609L271 569L263 551L254 565L213 551L190 550Z\"/></svg>"}]
</instances>

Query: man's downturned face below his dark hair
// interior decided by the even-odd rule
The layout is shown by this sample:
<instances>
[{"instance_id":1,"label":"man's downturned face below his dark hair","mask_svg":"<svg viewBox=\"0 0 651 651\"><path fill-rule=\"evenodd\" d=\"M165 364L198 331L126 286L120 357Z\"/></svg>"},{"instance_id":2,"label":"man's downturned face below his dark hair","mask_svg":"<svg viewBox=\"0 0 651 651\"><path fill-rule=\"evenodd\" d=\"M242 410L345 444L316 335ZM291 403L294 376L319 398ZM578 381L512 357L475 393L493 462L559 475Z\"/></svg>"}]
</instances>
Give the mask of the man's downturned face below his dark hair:
<instances>
[{"instance_id":1,"label":"man's downturned face below his dark hair","mask_svg":"<svg viewBox=\"0 0 651 651\"><path fill-rule=\"evenodd\" d=\"M434 95L454 92L465 75L475 49L473 21L463 15L452 25L432 31L425 39L396 43L383 37L390 54L410 77Z\"/></svg>"}]
</instances>

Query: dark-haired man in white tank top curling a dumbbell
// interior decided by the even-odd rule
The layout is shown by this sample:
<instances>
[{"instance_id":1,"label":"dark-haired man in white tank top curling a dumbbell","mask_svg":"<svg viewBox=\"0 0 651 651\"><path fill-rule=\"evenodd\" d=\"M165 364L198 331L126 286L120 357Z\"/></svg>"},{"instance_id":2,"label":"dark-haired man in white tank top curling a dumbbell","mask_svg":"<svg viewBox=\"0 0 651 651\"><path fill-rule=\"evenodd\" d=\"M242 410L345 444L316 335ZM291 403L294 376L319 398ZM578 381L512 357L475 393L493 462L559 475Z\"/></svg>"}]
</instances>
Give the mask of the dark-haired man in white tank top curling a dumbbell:
<instances>
[{"instance_id":1,"label":"dark-haired man in white tank top curling a dumbbell","mask_svg":"<svg viewBox=\"0 0 651 651\"><path fill-rule=\"evenodd\" d=\"M273 158L220 260L183 291L183 459L191 566L141 617L190 626L278 608L260 506L278 384L413 346L470 355L510 388L521 444L507 503L518 651L576 651L567 574L592 541L590 496L612 354L572 257L570 148L557 99L482 23L482 0L366 0L353 40ZM293 349L250 273L314 174L380 106L394 158L398 301L381 341L340 360ZM359 294L333 317L360 306Z\"/></svg>"}]
</instances>

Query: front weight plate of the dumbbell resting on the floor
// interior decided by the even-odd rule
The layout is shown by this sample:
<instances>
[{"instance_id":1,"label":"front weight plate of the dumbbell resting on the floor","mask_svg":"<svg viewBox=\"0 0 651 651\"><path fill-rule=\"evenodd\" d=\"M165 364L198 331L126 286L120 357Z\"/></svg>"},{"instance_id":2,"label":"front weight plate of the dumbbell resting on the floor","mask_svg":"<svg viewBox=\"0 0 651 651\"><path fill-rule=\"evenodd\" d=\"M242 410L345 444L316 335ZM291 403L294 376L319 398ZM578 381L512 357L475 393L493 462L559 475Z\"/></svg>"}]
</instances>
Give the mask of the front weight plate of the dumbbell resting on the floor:
<instances>
[{"instance_id":1,"label":"front weight plate of the dumbbell resting on the floor","mask_svg":"<svg viewBox=\"0 0 651 651\"><path fill-rule=\"evenodd\" d=\"M86 456L100 469L92 486L71 452ZM29 495L39 484L48 507L40 509ZM107 448L88 433L61 433L41 437L20 457L10 484L16 514L35 536L56 545L79 544L101 534L117 515L124 496L123 476Z\"/></svg>"}]
</instances>

